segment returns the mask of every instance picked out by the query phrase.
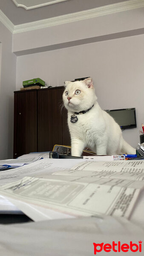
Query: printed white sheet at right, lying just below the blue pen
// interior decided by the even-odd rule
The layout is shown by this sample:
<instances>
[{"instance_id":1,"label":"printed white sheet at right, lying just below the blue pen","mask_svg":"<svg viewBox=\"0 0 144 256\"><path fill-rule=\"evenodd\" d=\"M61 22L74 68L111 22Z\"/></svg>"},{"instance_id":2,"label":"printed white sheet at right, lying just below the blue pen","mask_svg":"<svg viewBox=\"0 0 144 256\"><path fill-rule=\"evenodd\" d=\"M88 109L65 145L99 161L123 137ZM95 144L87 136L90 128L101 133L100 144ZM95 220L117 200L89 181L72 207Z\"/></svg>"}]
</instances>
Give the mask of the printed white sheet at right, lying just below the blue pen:
<instances>
[{"instance_id":1,"label":"printed white sheet at right, lying just below the blue pen","mask_svg":"<svg viewBox=\"0 0 144 256\"><path fill-rule=\"evenodd\" d=\"M92 174L93 177L120 178L128 180L144 180L144 161L114 161L114 162L91 162L87 161L74 166L69 175L74 174L81 176Z\"/></svg>"}]
</instances>

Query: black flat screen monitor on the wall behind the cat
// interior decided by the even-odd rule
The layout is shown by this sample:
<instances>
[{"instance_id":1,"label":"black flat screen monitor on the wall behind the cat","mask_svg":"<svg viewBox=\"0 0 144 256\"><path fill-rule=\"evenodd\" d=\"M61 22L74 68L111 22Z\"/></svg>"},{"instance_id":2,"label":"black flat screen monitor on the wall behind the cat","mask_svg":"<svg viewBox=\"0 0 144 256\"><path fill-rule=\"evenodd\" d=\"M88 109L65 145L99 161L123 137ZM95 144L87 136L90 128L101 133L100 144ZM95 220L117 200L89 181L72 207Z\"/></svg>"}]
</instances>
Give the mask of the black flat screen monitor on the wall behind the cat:
<instances>
[{"instance_id":1,"label":"black flat screen monitor on the wall behind the cat","mask_svg":"<svg viewBox=\"0 0 144 256\"><path fill-rule=\"evenodd\" d=\"M121 129L136 127L135 108L123 108L105 111L115 119L115 122L120 125Z\"/></svg>"}]
</instances>

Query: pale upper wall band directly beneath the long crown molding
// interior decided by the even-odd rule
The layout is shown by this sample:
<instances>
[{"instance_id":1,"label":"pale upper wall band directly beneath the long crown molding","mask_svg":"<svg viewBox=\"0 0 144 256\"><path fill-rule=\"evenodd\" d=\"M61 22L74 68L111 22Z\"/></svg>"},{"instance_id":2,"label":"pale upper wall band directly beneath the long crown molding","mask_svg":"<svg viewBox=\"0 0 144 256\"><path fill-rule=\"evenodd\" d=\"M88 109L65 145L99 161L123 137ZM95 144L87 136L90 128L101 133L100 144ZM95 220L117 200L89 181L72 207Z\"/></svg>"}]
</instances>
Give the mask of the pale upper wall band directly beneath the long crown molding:
<instances>
[{"instance_id":1,"label":"pale upper wall band directly beneath the long crown molding","mask_svg":"<svg viewBox=\"0 0 144 256\"><path fill-rule=\"evenodd\" d=\"M144 28L144 7L125 12L93 17L85 20L49 26L43 29L30 30L13 35L12 50L17 55L35 50L43 51L43 47L55 47L57 44L77 44L78 40L89 38L100 41L101 37L111 37L118 33L136 33ZM135 34L134 34L135 35ZM118 35L115 35L118 36ZM120 35L121 37L122 35ZM48 50L48 49L47 49ZM33 53L33 52L32 52Z\"/></svg>"}]
</instances>

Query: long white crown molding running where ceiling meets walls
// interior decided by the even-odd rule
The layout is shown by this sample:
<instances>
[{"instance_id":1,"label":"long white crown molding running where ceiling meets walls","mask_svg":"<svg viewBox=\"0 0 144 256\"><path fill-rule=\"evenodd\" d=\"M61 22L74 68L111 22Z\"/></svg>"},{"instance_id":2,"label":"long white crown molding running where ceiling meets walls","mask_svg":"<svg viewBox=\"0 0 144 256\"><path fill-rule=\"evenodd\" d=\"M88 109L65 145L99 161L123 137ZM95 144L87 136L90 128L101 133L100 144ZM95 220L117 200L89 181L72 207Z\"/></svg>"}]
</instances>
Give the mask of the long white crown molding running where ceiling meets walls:
<instances>
[{"instance_id":1,"label":"long white crown molding running where ceiling meets walls","mask_svg":"<svg viewBox=\"0 0 144 256\"><path fill-rule=\"evenodd\" d=\"M75 12L68 15L62 15L45 20L37 20L35 22L14 25L8 17L0 10L0 21L13 33L42 29L49 26L56 26L64 23L85 20L89 18L109 15L117 12L124 12L132 9L144 7L144 0L128 0L126 2L115 3L108 6L102 6L82 12Z\"/></svg>"}]
</instances>

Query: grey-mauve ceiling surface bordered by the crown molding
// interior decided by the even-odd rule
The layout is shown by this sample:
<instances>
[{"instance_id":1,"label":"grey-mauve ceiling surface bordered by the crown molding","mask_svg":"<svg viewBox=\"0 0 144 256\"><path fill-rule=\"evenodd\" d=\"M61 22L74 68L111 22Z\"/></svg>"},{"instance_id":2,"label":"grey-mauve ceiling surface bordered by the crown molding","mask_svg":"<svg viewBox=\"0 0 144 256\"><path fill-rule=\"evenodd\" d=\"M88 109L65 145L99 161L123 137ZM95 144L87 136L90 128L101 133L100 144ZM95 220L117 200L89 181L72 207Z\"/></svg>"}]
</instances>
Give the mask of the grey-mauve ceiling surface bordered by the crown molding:
<instances>
[{"instance_id":1,"label":"grey-mauve ceiling surface bordered by the crown molding","mask_svg":"<svg viewBox=\"0 0 144 256\"><path fill-rule=\"evenodd\" d=\"M126 1L127 0L0 0L0 10L14 25L20 25Z\"/></svg>"}]
</instances>

